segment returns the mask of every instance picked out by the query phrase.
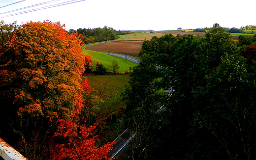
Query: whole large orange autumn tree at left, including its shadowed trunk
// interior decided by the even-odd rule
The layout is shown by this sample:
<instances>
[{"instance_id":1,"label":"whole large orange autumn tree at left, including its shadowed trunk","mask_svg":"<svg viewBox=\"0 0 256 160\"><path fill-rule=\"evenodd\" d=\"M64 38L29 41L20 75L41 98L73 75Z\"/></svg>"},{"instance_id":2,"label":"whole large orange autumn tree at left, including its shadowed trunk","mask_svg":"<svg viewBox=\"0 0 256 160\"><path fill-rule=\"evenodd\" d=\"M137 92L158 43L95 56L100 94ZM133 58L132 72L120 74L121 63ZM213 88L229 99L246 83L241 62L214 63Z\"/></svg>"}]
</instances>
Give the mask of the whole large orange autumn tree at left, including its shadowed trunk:
<instances>
[{"instance_id":1,"label":"whole large orange autumn tree at left, including its shadowed trunk","mask_svg":"<svg viewBox=\"0 0 256 160\"><path fill-rule=\"evenodd\" d=\"M59 119L79 121L84 95L90 92L88 81L82 79L82 42L63 27L49 21L17 29L1 26L0 118L11 124L1 132L18 133L17 147L28 159L42 159L49 151L46 141Z\"/></svg>"}]
</instances>

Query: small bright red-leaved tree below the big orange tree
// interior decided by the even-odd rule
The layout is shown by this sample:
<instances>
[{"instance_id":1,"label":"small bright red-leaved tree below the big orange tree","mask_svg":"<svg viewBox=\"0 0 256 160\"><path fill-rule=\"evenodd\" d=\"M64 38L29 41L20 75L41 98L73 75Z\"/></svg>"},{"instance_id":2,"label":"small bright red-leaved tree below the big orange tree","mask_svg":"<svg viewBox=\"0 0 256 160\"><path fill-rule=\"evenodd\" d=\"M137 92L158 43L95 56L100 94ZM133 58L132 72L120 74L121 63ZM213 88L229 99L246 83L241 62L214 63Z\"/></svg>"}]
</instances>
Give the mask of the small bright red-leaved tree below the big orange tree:
<instances>
[{"instance_id":1,"label":"small bright red-leaved tree below the big orange tree","mask_svg":"<svg viewBox=\"0 0 256 160\"><path fill-rule=\"evenodd\" d=\"M58 121L60 126L55 137L59 137L61 143L51 144L52 160L102 160L108 159L107 155L114 142L96 146L96 126L84 127L75 122Z\"/></svg>"}]
</instances>

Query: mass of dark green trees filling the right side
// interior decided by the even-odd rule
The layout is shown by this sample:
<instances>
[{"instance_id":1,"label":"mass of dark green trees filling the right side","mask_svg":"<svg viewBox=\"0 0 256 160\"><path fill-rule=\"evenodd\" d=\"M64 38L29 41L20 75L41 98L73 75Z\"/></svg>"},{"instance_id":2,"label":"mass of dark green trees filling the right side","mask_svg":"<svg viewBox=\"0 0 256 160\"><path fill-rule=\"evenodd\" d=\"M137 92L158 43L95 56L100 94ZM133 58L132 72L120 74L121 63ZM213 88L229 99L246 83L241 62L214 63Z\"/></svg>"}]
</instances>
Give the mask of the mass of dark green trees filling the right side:
<instances>
[{"instance_id":1,"label":"mass of dark green trees filling the right side","mask_svg":"<svg viewBox=\"0 0 256 160\"><path fill-rule=\"evenodd\" d=\"M133 160L256 159L256 46L230 37L215 24L144 41L123 94Z\"/></svg>"}]
</instances>

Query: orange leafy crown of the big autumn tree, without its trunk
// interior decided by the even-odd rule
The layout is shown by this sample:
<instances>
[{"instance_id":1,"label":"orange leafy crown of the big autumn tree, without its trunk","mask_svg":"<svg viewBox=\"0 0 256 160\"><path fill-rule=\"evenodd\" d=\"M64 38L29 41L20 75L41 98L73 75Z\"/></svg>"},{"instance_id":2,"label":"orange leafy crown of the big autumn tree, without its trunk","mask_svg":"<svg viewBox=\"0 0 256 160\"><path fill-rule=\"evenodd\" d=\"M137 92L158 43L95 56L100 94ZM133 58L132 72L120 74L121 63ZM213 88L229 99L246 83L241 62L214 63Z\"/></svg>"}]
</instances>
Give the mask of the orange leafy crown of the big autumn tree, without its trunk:
<instances>
[{"instance_id":1,"label":"orange leafy crown of the big autumn tree, without its trunk","mask_svg":"<svg viewBox=\"0 0 256 160\"><path fill-rule=\"evenodd\" d=\"M15 68L15 79L19 80L18 87L24 93L15 98L15 103L24 105L19 113L41 109L39 112L47 116L54 112L65 117L79 114L83 107L81 95L83 90L89 93L90 86L87 83L81 87L85 84L81 84L85 61L81 40L63 27L59 22L29 22L14 31L15 40L10 46L15 58L8 67ZM40 109L35 99L42 102Z\"/></svg>"}]
</instances>

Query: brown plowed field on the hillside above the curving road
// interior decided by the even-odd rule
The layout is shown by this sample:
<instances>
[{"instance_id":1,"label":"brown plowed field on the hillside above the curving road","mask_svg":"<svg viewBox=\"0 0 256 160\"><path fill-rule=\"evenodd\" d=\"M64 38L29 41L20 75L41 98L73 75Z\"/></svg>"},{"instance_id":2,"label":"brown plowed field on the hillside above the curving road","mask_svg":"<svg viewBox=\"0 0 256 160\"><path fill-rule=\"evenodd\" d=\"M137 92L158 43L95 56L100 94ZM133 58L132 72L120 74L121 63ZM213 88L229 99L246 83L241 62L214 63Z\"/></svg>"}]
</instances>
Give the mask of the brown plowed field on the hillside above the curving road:
<instances>
[{"instance_id":1,"label":"brown plowed field on the hillside above the curving road","mask_svg":"<svg viewBox=\"0 0 256 160\"><path fill-rule=\"evenodd\" d=\"M141 45L145 39L150 40L153 36L161 37L165 34L199 34L202 35L204 32L165 32L159 34L151 34L140 37L133 37L128 39L117 40L109 43L101 43L95 46L87 47L87 50L98 51L98 52L110 52L110 53L127 53L128 55L138 56Z\"/></svg>"}]
</instances>

